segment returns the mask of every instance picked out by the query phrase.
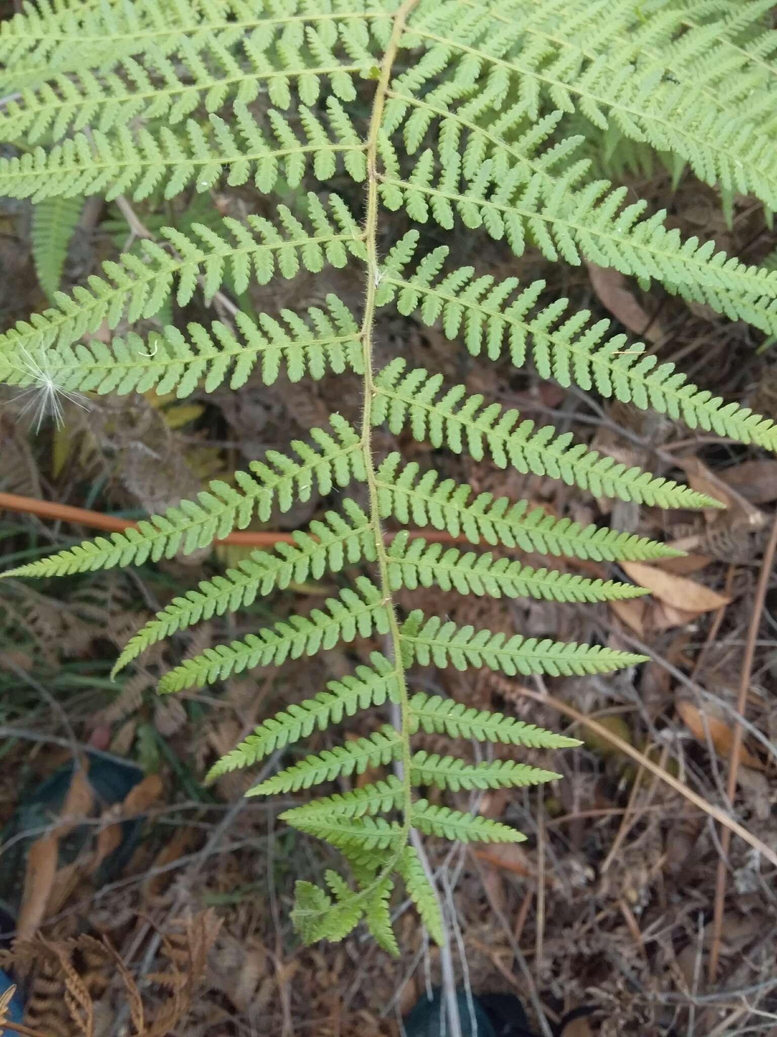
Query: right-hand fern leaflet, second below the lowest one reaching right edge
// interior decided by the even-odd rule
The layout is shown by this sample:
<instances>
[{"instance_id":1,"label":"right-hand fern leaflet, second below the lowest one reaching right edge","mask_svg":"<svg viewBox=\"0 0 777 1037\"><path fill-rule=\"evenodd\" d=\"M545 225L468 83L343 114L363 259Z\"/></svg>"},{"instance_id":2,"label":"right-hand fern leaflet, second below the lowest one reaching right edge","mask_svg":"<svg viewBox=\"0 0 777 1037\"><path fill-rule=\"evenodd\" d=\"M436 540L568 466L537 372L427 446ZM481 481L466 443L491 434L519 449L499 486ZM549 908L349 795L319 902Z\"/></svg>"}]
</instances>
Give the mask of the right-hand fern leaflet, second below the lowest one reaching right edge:
<instances>
[{"instance_id":1,"label":"right-hand fern leaflet, second below the lowest one reaching right edge","mask_svg":"<svg viewBox=\"0 0 777 1037\"><path fill-rule=\"evenodd\" d=\"M483 493L454 479L441 479L428 470L421 474L416 461L402 466L402 456L391 453L376 472L381 518L393 516L405 525L432 526L452 536L464 535L472 543L491 544L549 555L567 555L595 561L641 561L671 558L674 549L637 536L570 518L555 518L527 501L512 504L507 497ZM529 509L530 508L530 509Z\"/></svg>"}]
</instances>

